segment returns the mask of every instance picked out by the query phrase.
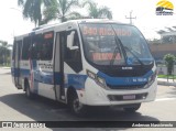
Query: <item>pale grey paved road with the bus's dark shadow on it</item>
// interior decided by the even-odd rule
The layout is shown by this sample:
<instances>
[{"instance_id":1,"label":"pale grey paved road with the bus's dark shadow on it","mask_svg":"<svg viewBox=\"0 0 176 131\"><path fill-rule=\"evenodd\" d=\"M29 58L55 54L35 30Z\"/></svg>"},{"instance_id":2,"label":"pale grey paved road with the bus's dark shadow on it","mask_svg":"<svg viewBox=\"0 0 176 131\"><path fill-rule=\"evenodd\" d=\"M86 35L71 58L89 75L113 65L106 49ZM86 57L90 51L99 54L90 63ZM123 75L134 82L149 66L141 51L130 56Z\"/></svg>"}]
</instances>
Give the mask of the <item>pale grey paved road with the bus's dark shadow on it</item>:
<instances>
[{"instance_id":1,"label":"pale grey paved road with the bus's dark shadow on it","mask_svg":"<svg viewBox=\"0 0 176 131\"><path fill-rule=\"evenodd\" d=\"M0 68L0 121L176 121L176 87L158 86L156 100L143 103L135 113L127 113L121 109L95 109L86 118L79 118L59 102L36 97L28 99L22 90L18 90L11 80L10 69ZM106 124L106 122L105 122ZM1 129L0 129L1 130ZM4 130L4 129L3 129ZM7 131L8 129L6 129ZM20 130L20 129L16 129ZM24 129L21 129L24 130ZM35 129L37 130L37 129ZM40 131L41 129L38 129ZM58 129L47 128L43 131ZM61 131L81 131L82 129L59 128ZM86 131L141 130L138 128L86 128ZM143 130L148 130L145 128ZM152 130L152 128L150 128ZM154 129L153 129L154 130ZM176 130L176 129L161 129ZM11 131L9 129L9 131Z\"/></svg>"}]
</instances>

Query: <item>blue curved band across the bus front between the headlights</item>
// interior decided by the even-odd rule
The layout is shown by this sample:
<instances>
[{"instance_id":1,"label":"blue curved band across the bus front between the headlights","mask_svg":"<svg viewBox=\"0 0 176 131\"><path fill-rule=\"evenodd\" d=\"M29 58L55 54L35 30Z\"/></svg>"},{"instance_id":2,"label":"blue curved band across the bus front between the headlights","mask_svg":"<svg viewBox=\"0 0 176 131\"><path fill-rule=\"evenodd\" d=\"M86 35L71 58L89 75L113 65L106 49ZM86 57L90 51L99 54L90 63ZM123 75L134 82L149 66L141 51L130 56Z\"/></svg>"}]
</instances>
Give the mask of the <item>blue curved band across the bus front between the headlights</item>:
<instances>
[{"instance_id":1,"label":"blue curved band across the bus front between the headlights","mask_svg":"<svg viewBox=\"0 0 176 131\"><path fill-rule=\"evenodd\" d=\"M133 86L146 84L148 77L153 74L152 70L140 77L110 77L101 72L98 72L98 76L103 78L108 85L111 86Z\"/></svg>"}]
</instances>

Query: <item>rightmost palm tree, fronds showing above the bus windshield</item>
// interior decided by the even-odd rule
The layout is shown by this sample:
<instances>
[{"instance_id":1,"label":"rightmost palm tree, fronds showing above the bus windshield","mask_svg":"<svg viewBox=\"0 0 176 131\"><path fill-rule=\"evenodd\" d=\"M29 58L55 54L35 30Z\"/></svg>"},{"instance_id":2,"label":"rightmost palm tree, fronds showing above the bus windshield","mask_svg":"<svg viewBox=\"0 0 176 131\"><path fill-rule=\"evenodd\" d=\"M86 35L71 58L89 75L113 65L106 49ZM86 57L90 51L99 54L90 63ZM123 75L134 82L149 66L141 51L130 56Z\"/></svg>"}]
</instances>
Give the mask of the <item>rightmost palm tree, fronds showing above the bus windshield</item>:
<instances>
[{"instance_id":1,"label":"rightmost palm tree, fronds showing above the bus windshield","mask_svg":"<svg viewBox=\"0 0 176 131\"><path fill-rule=\"evenodd\" d=\"M88 15L94 19L100 19L100 18L108 18L112 19L112 12L108 7L100 7L98 8L98 4L87 0L82 3L82 7L88 6Z\"/></svg>"}]
</instances>

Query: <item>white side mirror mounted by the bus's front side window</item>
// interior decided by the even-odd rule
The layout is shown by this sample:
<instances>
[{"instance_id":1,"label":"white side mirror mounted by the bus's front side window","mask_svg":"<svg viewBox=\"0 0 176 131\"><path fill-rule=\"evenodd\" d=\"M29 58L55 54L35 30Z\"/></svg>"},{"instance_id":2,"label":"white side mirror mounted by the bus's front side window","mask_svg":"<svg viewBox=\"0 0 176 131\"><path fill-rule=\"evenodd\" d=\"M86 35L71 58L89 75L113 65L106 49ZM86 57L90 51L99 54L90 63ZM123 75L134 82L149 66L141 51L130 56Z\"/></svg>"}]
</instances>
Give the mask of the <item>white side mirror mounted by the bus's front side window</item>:
<instances>
[{"instance_id":1,"label":"white side mirror mounted by the bus's front side window","mask_svg":"<svg viewBox=\"0 0 176 131\"><path fill-rule=\"evenodd\" d=\"M74 46L74 36L75 36L75 31L72 31L70 34L67 36L67 47L69 50L78 50L78 46Z\"/></svg>"}]
</instances>

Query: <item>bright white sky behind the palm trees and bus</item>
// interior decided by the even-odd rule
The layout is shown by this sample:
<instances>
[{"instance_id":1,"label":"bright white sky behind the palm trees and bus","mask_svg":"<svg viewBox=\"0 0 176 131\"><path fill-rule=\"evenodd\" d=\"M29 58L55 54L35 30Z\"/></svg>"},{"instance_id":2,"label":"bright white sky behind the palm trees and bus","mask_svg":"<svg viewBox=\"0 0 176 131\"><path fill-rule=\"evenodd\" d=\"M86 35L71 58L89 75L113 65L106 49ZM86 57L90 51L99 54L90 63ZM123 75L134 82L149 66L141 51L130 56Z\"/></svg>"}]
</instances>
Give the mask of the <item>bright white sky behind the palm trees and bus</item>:
<instances>
[{"instance_id":1,"label":"bright white sky behind the palm trees and bus","mask_svg":"<svg viewBox=\"0 0 176 131\"><path fill-rule=\"evenodd\" d=\"M158 39L158 30L176 25L176 0L169 0L174 4L173 15L156 15L156 4L161 0L95 0L99 7L107 6L112 11L113 20L130 23L138 26L146 39ZM84 11L82 11L84 12ZM30 20L24 20L22 9L18 7L18 0L3 0L0 4L0 40L13 43L13 37L30 32L35 28Z\"/></svg>"}]
</instances>

